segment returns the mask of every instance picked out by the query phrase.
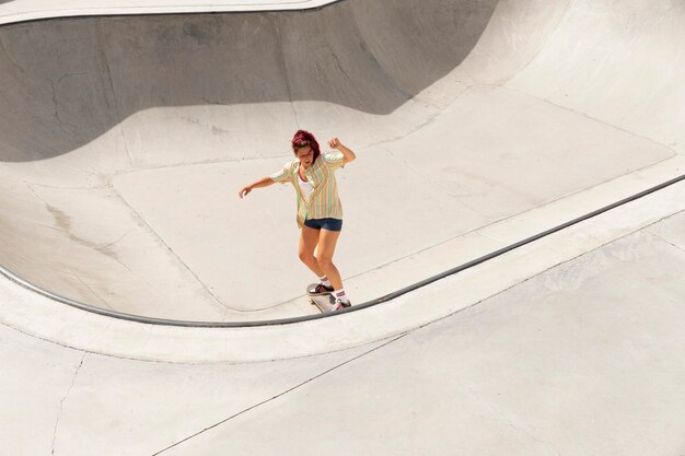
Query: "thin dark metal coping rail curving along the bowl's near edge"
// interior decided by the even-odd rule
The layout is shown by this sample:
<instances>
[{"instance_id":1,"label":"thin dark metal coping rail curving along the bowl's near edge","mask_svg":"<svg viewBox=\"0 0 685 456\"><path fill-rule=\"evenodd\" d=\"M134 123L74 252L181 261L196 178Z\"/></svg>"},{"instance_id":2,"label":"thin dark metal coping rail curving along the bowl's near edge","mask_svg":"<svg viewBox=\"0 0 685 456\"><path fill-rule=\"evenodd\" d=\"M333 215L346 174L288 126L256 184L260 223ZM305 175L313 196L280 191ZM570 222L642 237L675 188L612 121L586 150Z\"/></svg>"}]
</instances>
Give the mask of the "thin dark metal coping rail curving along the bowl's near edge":
<instances>
[{"instance_id":1,"label":"thin dark metal coping rail curving along the bowl's near edge","mask_svg":"<svg viewBox=\"0 0 685 456\"><path fill-rule=\"evenodd\" d=\"M15 273L13 273L12 271L10 271L9 269L7 269L5 267L0 265L0 273L4 274L7 278L9 278L10 280L19 283L20 285L34 291L40 295L44 295L50 300L60 302L62 304L67 304L69 306L72 307L77 307L80 308L82 311L86 311L93 314L98 314L98 315L103 315L103 316L107 316L107 317L113 317L113 318L118 318L118 319L124 319L124 320L129 320L129 321L135 321L135 323L141 323L141 324L147 324L147 325L156 325L156 326L175 326L175 327L186 327L186 328L249 328L249 327L263 327L263 326L279 326L279 325L292 325L292 324L297 324L297 323L303 323L303 321L310 321L310 320L316 320L316 319L321 319L321 318L328 318L328 317L333 317L333 316L337 316L337 315L342 315L342 314L348 314L350 312L358 312L361 311L363 308L368 308L368 307L372 307L374 305L379 305L388 301L392 301L396 297L399 297L404 294L410 293L413 291L416 291L422 287L429 285L433 282L437 282L438 280L442 280L444 278L448 278L450 276L453 276L457 272L464 271L466 269L473 268L477 265L480 265L485 261L491 260L492 258L499 257L501 255L504 255L511 250L514 250L519 247L522 247L526 244L530 244L532 242L538 241L543 237L549 236L550 234L557 233L561 230L565 230L569 226L576 225L580 222L583 222L585 220L592 219L594 217L597 217L604 212L607 212L612 209L616 209L620 206L624 206L628 202L635 201L637 199L640 199L647 195L653 194L655 191L662 190L669 186L672 186L676 183L680 183L682 180L685 180L685 174L678 177L675 177L671 180L667 180L665 183L659 184L654 187L651 187L647 190L640 191L639 194L632 195L631 197L622 199L617 202L614 202L612 204L605 206L601 209L597 209L595 211L592 211L590 213L587 213L584 215L581 215L577 219L573 219L569 222L562 223L558 226L555 226L553 229L549 229L547 231L544 231L542 233L538 233L534 236L531 237L526 237L523 241L519 241L515 244L511 244L507 247L500 248L498 250L495 250L488 255L481 256L479 258L476 258L474 260L471 260L468 262L465 262L461 266L457 266L455 268L449 269L444 272L441 272L437 276L430 277L428 279L421 280L420 282L414 283L409 287L405 287L400 290L394 291L392 293L388 293L384 296L378 297L375 300L371 300L368 301L365 303L362 304L357 304L353 305L352 307L348 307L348 308L344 308L340 311L336 311L333 313L328 313L328 314L315 314L315 315L304 315L301 317L291 317L291 318L280 318L280 319L269 319L269 320L255 320L255 321L186 321L186 320L174 320L174 319L165 319L165 318L154 318L154 317L144 317L144 316L139 316L139 315L131 315L131 314L125 314L125 313L120 313L120 312L115 312L115 311L108 311L105 308L100 308L100 307L95 307L89 304L84 304L84 303L80 303L78 301L74 300L70 300L68 297L63 297L60 295L57 295L55 293L51 293L47 290L44 290L39 287L34 285L33 283L27 282L26 280L22 279L21 277L16 276Z\"/></svg>"}]
</instances>

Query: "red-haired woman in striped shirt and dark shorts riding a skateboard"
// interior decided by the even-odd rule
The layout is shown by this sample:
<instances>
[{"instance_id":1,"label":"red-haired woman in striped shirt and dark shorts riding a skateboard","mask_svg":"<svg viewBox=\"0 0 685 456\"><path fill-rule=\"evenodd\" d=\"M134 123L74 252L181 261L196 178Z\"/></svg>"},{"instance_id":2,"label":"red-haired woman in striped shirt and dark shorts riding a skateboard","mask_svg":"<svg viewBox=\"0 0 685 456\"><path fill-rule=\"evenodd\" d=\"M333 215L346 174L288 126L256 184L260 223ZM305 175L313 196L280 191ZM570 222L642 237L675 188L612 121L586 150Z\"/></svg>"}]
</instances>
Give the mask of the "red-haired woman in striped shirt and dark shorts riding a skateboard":
<instances>
[{"instance_id":1,"label":"red-haired woman in striped shirt and dark shorts riding a skateboard","mask_svg":"<svg viewBox=\"0 0 685 456\"><path fill-rule=\"evenodd\" d=\"M304 130L298 130L290 143L295 160L288 162L278 173L243 187L239 197L243 198L254 188L268 187L274 183L291 183L298 195L300 259L320 280L306 292L313 296L332 293L335 297L333 311L349 307L351 303L345 294L342 279L333 264L335 246L342 230L342 206L335 171L357 156L337 138L328 141L328 145L338 152L322 154L314 135Z\"/></svg>"}]
</instances>

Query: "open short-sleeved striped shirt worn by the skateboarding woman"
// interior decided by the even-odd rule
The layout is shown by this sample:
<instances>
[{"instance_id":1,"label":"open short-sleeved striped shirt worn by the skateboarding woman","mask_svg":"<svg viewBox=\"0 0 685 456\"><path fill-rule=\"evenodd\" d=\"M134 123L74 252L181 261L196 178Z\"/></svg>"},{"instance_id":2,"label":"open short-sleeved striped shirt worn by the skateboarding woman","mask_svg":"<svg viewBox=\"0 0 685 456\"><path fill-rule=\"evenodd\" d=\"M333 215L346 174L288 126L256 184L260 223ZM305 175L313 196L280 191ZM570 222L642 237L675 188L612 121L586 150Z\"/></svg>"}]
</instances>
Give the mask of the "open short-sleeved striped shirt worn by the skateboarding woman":
<instances>
[{"instance_id":1,"label":"open short-sleeved striped shirt worn by the skateboarding woman","mask_svg":"<svg viewBox=\"0 0 685 456\"><path fill-rule=\"evenodd\" d=\"M300 189L298 159L288 162L270 177L279 184L291 183L298 194L298 226L302 227L307 219L342 219L342 204L338 196L335 171L345 165L342 152L329 152L318 155L316 161L304 172L306 180L314 186L314 191L305 197Z\"/></svg>"}]
</instances>

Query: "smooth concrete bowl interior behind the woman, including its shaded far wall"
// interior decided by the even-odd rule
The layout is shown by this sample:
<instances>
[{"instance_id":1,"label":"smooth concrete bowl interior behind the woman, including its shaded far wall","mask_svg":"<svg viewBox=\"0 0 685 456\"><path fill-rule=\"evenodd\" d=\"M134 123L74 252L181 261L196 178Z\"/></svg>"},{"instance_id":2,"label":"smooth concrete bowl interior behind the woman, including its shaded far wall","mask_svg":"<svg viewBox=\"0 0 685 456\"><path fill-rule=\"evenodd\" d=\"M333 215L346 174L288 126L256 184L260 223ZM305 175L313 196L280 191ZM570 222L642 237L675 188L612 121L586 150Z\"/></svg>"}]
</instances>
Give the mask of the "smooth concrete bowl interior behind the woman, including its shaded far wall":
<instances>
[{"instance_id":1,"label":"smooth concrete bowl interior behind the woman, including its shaded far wall","mask_svg":"<svg viewBox=\"0 0 685 456\"><path fill-rule=\"evenodd\" d=\"M312 313L293 192L235 196L305 128L359 156L336 262L376 297L426 274L373 271L683 154L683 23L674 1L347 0L3 25L0 264L137 315Z\"/></svg>"}]
</instances>

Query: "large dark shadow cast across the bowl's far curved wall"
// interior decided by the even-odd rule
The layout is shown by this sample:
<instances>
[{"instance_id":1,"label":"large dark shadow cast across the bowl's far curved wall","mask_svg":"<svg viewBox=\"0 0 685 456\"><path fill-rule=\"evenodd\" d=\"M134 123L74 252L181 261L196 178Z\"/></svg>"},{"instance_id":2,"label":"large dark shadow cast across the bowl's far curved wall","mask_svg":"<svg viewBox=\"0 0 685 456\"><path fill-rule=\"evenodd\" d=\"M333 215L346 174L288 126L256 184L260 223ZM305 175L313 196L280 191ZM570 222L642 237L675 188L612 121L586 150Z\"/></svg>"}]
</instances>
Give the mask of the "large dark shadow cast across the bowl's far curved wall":
<instances>
[{"instance_id":1,"label":"large dark shadow cast across the bowl's far curved wall","mask_svg":"<svg viewBox=\"0 0 685 456\"><path fill-rule=\"evenodd\" d=\"M70 152L151 107L322 101L388 114L462 62L497 3L348 0L5 25L0 161Z\"/></svg>"}]
</instances>

